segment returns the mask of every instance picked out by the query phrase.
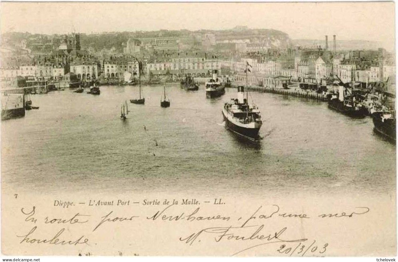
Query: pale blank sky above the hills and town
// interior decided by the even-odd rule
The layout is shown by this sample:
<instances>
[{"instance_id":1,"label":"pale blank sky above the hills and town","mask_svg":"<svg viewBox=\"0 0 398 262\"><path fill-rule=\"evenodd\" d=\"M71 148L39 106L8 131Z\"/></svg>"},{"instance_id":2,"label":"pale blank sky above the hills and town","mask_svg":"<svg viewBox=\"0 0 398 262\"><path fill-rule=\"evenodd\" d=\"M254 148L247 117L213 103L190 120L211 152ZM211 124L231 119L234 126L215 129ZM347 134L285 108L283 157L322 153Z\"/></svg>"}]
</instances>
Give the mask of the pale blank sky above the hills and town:
<instances>
[{"instance_id":1,"label":"pale blank sky above the hills and town","mask_svg":"<svg viewBox=\"0 0 398 262\"><path fill-rule=\"evenodd\" d=\"M380 41L395 47L394 2L112 3L1 2L2 33L98 33L158 29L281 30L292 39Z\"/></svg>"}]
</instances>

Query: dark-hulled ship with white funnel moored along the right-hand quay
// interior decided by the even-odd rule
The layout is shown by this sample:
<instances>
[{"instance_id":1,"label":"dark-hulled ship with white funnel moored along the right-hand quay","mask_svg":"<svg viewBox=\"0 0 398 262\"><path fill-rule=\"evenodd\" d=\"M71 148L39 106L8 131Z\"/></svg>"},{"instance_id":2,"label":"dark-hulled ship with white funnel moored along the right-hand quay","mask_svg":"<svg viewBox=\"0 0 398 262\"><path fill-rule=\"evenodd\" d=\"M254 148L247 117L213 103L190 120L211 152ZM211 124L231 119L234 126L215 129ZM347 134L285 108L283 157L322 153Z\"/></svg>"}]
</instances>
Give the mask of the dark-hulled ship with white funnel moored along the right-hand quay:
<instances>
[{"instance_id":1,"label":"dark-hulled ship with white funnel moored along the right-hand quay","mask_svg":"<svg viewBox=\"0 0 398 262\"><path fill-rule=\"evenodd\" d=\"M351 95L345 96L344 88L339 85L337 93L328 94L328 107L351 117L365 117L366 109L361 104L360 96L353 94L353 90L351 90Z\"/></svg>"}]
</instances>

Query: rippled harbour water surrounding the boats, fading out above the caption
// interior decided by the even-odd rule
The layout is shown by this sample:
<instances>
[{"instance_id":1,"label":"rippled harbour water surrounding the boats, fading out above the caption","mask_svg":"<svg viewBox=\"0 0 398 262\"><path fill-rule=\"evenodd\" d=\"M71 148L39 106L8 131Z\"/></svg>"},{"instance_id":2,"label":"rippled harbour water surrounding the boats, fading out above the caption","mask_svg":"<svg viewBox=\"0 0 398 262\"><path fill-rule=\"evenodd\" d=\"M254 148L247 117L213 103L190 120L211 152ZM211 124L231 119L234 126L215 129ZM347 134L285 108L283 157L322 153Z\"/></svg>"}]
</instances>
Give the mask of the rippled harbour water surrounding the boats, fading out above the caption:
<instances>
[{"instance_id":1,"label":"rippled harbour water surrounding the boats, fading out above the caption","mask_svg":"<svg viewBox=\"0 0 398 262\"><path fill-rule=\"evenodd\" d=\"M86 90L85 90L86 91ZM39 110L1 122L2 185L36 192L213 194L237 192L375 192L395 189L396 146L373 131L370 117L351 119L325 102L250 92L263 126L258 144L222 123L226 90L207 99L162 86L101 86L101 95L73 90L31 95Z\"/></svg>"}]
</instances>

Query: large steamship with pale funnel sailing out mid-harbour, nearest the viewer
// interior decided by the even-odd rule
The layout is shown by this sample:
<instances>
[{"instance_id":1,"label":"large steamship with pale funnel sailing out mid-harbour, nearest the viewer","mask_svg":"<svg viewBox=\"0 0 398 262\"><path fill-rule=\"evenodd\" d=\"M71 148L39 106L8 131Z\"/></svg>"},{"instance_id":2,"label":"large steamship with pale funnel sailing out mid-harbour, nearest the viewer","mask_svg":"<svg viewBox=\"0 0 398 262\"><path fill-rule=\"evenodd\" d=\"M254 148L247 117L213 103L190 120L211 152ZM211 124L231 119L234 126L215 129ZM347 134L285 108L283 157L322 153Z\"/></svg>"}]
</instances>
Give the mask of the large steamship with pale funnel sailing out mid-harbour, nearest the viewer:
<instances>
[{"instance_id":1,"label":"large steamship with pale funnel sailing out mid-harbour, nearest the viewer","mask_svg":"<svg viewBox=\"0 0 398 262\"><path fill-rule=\"evenodd\" d=\"M258 141L263 122L257 106L249 105L246 91L244 98L244 87L238 86L238 98L226 102L222 108L225 127L230 131L241 135L251 141Z\"/></svg>"}]
</instances>

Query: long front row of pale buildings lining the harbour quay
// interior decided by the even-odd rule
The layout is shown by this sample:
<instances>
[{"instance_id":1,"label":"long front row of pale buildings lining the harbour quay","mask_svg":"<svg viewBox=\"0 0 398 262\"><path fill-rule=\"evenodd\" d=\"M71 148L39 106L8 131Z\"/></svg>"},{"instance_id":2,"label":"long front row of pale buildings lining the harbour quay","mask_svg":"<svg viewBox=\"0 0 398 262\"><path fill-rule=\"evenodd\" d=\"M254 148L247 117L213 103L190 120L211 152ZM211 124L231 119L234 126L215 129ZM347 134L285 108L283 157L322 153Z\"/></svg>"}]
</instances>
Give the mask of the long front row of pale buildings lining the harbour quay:
<instances>
[{"instance_id":1,"label":"long front row of pale buildings lining the harbour quay","mask_svg":"<svg viewBox=\"0 0 398 262\"><path fill-rule=\"evenodd\" d=\"M250 65L251 78L286 76L292 80L305 81L307 78L315 79L322 83L331 77L338 77L344 83L353 82L377 82L395 78L395 65L377 59L365 61L350 59L347 54L339 54L335 57L319 55L316 59L295 59L287 65L278 59L269 59L258 62L258 59L219 59L215 56L207 57L205 54L176 54L168 57L157 57L153 60L138 60L133 56L114 56L106 61L86 64L69 63L65 66L55 65L27 65L17 68L2 68L2 78L16 76L35 76L44 78L56 78L68 72L77 75L80 80L103 78L121 78L125 73L131 77L139 74L191 74L193 76L207 76L211 70L228 68L232 74L245 76L246 63ZM139 61L141 68L139 68Z\"/></svg>"}]
</instances>

